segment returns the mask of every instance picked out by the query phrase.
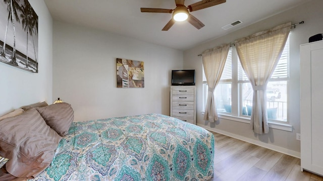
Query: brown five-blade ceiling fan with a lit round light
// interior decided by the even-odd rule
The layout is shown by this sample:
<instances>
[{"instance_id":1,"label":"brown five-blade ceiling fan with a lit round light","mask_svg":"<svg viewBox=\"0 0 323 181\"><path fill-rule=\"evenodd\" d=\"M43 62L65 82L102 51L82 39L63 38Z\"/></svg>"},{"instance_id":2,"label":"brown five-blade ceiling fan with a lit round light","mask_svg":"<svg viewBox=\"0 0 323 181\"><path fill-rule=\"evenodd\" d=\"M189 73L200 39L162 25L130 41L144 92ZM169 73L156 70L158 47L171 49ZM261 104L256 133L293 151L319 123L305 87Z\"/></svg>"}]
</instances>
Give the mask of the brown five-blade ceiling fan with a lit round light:
<instances>
[{"instance_id":1,"label":"brown five-blade ceiling fan with a lit round light","mask_svg":"<svg viewBox=\"0 0 323 181\"><path fill-rule=\"evenodd\" d=\"M186 7L184 5L184 1L185 0L175 0L176 8L174 10L159 8L140 8L140 11L142 13L173 13L173 18L165 25L165 27L162 29L163 31L168 31L176 21L185 20L187 20L195 28L201 29L205 25L193 15L189 14L189 12L202 10L204 8L226 3L226 0L202 0Z\"/></svg>"}]
</instances>

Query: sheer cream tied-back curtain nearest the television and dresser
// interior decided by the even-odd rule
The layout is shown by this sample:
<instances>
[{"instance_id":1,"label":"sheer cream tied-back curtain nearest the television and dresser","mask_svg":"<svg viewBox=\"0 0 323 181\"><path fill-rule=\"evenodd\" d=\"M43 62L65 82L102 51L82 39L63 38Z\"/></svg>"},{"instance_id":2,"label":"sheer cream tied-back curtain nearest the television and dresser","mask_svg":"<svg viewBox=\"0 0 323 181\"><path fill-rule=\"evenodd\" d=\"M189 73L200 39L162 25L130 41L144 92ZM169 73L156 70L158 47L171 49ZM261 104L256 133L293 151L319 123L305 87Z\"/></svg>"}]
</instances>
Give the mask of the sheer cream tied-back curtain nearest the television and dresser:
<instances>
[{"instance_id":1,"label":"sheer cream tied-back curtain nearest the television and dresser","mask_svg":"<svg viewBox=\"0 0 323 181\"><path fill-rule=\"evenodd\" d=\"M220 47L205 50L202 53L204 73L208 86L204 120L211 123L219 120L213 92L221 78L229 48L230 44L225 44Z\"/></svg>"}]
</instances>

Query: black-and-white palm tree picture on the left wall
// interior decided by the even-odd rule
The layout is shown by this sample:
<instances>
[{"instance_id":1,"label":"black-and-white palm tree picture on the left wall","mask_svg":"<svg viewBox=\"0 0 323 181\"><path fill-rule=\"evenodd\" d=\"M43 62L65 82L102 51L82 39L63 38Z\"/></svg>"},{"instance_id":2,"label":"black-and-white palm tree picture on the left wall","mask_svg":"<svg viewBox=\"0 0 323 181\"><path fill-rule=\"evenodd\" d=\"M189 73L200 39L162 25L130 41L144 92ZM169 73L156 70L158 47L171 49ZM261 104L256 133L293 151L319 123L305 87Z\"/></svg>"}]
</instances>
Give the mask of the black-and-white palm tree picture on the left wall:
<instances>
[{"instance_id":1,"label":"black-and-white palm tree picture on the left wall","mask_svg":"<svg viewBox=\"0 0 323 181\"><path fill-rule=\"evenodd\" d=\"M0 0L0 62L38 73L38 16L28 0Z\"/></svg>"}]
</instances>

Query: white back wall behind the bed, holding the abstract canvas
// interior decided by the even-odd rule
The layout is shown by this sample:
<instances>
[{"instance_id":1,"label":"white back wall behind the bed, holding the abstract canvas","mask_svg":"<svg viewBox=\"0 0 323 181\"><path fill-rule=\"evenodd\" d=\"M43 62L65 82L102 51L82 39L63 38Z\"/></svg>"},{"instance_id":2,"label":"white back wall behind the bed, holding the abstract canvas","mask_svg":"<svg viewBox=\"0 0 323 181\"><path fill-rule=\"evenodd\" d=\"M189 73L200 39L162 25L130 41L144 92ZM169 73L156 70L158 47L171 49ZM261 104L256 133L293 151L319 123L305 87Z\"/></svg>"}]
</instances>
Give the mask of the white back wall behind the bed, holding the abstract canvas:
<instances>
[{"instance_id":1,"label":"white back wall behind the bed, holding the abstract canvas","mask_svg":"<svg viewBox=\"0 0 323 181\"><path fill-rule=\"evenodd\" d=\"M117 88L116 58L144 62L144 88ZM75 121L169 115L171 70L182 67L182 51L53 23L53 98L72 105Z\"/></svg>"}]
</instances>

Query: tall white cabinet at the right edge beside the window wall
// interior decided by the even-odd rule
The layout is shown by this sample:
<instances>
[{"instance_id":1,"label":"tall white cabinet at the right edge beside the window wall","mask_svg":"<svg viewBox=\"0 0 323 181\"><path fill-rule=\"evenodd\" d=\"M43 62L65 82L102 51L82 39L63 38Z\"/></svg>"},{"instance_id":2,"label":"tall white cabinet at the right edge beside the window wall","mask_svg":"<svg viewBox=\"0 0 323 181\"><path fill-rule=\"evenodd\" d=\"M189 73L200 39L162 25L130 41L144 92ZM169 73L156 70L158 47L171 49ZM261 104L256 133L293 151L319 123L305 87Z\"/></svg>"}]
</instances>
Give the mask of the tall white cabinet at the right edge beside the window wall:
<instances>
[{"instance_id":1,"label":"tall white cabinet at the right edge beside the window wall","mask_svg":"<svg viewBox=\"0 0 323 181\"><path fill-rule=\"evenodd\" d=\"M323 41L300 46L301 168L323 175Z\"/></svg>"}]
</instances>

